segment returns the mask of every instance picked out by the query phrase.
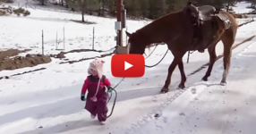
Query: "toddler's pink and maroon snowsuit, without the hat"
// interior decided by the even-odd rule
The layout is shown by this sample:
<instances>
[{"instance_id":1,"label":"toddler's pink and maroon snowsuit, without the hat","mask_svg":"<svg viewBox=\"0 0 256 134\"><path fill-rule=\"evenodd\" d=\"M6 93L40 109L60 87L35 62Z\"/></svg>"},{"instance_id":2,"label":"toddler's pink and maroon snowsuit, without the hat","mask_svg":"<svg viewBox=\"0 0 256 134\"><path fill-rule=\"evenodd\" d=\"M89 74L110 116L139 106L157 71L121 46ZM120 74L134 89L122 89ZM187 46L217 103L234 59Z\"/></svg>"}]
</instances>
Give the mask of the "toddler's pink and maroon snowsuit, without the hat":
<instances>
[{"instance_id":1,"label":"toddler's pink and maroon snowsuit, without the hat","mask_svg":"<svg viewBox=\"0 0 256 134\"><path fill-rule=\"evenodd\" d=\"M98 77L90 75L84 81L84 84L81 88L81 94L85 94L88 89L88 95L86 97L86 105L85 109L88 110L92 115L98 115L98 121L106 121L107 120L107 99L108 95L106 92L107 88L111 86L109 80L107 80L105 75L102 75L102 79L100 80L98 87ZM93 102L91 97L95 96L98 87L98 93L96 95L97 101Z\"/></svg>"}]
</instances>

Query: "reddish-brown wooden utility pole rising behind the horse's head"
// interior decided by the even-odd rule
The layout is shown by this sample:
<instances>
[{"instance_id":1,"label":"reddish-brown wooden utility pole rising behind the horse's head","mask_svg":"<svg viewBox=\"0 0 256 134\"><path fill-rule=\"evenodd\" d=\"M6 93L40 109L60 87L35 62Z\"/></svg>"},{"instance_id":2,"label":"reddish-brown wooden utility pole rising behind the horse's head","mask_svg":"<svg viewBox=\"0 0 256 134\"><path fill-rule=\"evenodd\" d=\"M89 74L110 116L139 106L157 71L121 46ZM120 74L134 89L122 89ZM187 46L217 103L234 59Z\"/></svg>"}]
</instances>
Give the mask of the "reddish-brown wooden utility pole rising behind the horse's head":
<instances>
[{"instance_id":1,"label":"reddish-brown wooden utility pole rising behind the horse's head","mask_svg":"<svg viewBox=\"0 0 256 134\"><path fill-rule=\"evenodd\" d=\"M116 18L117 21L121 22L121 26L122 26L122 8L123 8L123 0L116 0ZM118 32L118 44L119 46L123 46L123 28L121 27L120 30L117 31Z\"/></svg>"}]
</instances>

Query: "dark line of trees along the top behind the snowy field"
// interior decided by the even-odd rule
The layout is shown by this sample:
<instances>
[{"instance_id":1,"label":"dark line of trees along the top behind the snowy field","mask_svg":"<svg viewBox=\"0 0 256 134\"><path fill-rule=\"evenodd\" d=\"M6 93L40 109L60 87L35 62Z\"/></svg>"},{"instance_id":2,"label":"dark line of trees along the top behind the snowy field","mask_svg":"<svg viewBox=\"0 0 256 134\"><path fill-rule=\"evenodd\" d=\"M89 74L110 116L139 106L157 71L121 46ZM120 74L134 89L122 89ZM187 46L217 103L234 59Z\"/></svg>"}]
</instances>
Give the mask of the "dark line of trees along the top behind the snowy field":
<instances>
[{"instance_id":1,"label":"dark line of trees along the top behind the snowy field","mask_svg":"<svg viewBox=\"0 0 256 134\"><path fill-rule=\"evenodd\" d=\"M0 0L1 1L1 0ZM6 1L6 0L2 0ZM39 4L46 4L49 0L38 0ZM73 11L81 12L81 20L84 21L84 14L96 13L98 16L115 16L116 0L51 0ZM123 0L127 17L143 19L157 19L158 17L183 9L188 0ZM256 9L256 0L191 0L195 5L209 4L217 8L224 8L232 11L231 6L237 2L247 1L251 5L248 8Z\"/></svg>"}]
</instances>

